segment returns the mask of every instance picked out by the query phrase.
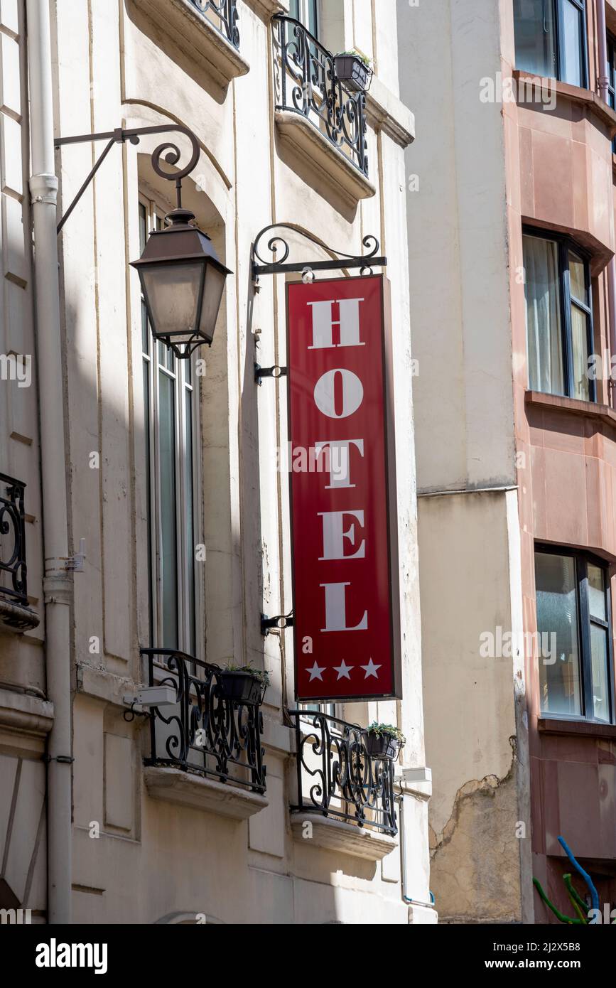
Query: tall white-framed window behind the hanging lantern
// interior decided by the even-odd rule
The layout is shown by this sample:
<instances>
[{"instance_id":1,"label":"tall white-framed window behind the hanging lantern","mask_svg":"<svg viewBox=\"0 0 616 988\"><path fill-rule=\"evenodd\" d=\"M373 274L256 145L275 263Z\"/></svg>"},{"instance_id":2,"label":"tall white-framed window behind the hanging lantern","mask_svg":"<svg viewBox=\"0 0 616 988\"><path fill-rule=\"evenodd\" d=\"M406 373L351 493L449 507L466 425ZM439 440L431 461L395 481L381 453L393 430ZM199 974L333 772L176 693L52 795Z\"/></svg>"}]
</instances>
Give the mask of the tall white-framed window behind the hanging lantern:
<instances>
[{"instance_id":1,"label":"tall white-framed window behind the hanging lantern","mask_svg":"<svg viewBox=\"0 0 616 988\"><path fill-rule=\"evenodd\" d=\"M141 250L161 229L164 210L139 203ZM192 362L153 340L141 299L148 504L150 646L195 654L195 498L193 423L198 421ZM194 471L195 473L196 471Z\"/></svg>"}]
</instances>

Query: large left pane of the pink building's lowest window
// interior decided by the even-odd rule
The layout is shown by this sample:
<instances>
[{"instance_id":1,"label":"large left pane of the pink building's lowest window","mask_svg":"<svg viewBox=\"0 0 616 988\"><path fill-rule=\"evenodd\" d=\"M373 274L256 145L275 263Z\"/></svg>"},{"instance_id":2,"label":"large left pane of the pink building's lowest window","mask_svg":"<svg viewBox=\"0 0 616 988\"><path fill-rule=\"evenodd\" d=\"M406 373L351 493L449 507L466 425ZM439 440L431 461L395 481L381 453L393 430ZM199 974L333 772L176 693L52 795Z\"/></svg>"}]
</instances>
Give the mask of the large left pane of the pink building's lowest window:
<instances>
[{"instance_id":1,"label":"large left pane of the pink building's lowest window","mask_svg":"<svg viewBox=\"0 0 616 988\"><path fill-rule=\"evenodd\" d=\"M541 709L547 713L581 713L577 644L576 563L568 556L535 554L537 630ZM554 637L551 637L554 635ZM555 647L553 647L555 646ZM548 655L547 653L551 654Z\"/></svg>"}]
</instances>

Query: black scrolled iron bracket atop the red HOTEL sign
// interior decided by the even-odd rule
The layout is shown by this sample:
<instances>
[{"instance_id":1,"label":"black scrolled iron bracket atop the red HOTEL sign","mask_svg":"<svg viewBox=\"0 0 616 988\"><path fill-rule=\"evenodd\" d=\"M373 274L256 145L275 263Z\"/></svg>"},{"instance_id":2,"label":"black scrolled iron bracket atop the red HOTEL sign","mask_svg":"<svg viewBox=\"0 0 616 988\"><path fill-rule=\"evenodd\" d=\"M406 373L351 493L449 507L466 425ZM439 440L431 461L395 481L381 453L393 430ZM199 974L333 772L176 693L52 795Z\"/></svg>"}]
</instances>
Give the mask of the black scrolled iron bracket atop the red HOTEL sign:
<instances>
[{"instance_id":1,"label":"black scrolled iron bracket atop the red HOTEL sign","mask_svg":"<svg viewBox=\"0 0 616 988\"><path fill-rule=\"evenodd\" d=\"M271 230L292 230L299 236L304 237L311 243L316 244L321 247L322 250L327 251L332 256L328 261L300 261L297 263L286 263L286 259L289 256L290 248L287 241L279 234L274 235L269 238L268 250L274 256L276 251L281 248L282 256L279 260L274 260L270 263L266 261L265 258L259 253L261 240L263 237ZM372 268L382 267L387 265L386 257L378 257L379 242L375 236L369 233L365 236L361 243L368 250L367 254L361 256L346 254L344 251L334 250L333 247L328 247L327 244L323 244L312 234L306 233L305 230L298 230L297 227L293 226L292 223L270 223L269 226L264 226L255 239L252 250L252 270L253 270L253 284L255 287L259 286L259 279L261 275L283 275L286 273L301 273L304 280L307 282L314 281L314 273L316 271L342 271L343 269L359 269L359 273L372 274Z\"/></svg>"}]
</instances>

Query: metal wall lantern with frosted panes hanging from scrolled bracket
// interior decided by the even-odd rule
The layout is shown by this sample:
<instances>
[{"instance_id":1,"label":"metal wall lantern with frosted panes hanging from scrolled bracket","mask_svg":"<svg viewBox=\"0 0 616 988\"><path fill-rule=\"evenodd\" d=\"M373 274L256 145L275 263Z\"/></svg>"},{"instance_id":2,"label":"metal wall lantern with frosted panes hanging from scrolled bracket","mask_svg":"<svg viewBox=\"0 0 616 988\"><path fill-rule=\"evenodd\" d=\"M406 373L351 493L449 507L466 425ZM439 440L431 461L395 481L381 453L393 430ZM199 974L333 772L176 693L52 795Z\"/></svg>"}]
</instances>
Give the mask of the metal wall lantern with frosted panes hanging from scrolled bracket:
<instances>
[{"instance_id":1,"label":"metal wall lantern with frosted panes hanging from scrolled bracket","mask_svg":"<svg viewBox=\"0 0 616 988\"><path fill-rule=\"evenodd\" d=\"M202 344L211 346L225 279L231 272L220 263L206 233L192 225L194 214L178 206L169 224L153 230L138 261L152 335L177 357L189 358Z\"/></svg>"}]
</instances>

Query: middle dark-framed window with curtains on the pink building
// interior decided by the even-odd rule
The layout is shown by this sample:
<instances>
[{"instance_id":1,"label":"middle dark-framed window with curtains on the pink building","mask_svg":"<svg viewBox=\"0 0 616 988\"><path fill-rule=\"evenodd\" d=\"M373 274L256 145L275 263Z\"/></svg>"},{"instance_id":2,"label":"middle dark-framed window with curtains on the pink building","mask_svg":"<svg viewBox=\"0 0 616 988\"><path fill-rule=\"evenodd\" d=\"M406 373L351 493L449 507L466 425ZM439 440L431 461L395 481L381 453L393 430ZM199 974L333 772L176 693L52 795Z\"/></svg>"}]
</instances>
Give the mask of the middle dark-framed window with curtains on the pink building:
<instances>
[{"instance_id":1,"label":"middle dark-framed window with curtains on the pink building","mask_svg":"<svg viewBox=\"0 0 616 988\"><path fill-rule=\"evenodd\" d=\"M585 256L566 238L526 231L522 239L528 386L596 401L588 376L593 336Z\"/></svg>"}]
</instances>

